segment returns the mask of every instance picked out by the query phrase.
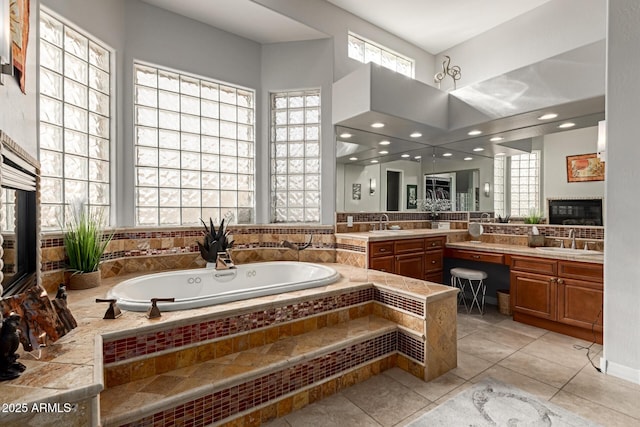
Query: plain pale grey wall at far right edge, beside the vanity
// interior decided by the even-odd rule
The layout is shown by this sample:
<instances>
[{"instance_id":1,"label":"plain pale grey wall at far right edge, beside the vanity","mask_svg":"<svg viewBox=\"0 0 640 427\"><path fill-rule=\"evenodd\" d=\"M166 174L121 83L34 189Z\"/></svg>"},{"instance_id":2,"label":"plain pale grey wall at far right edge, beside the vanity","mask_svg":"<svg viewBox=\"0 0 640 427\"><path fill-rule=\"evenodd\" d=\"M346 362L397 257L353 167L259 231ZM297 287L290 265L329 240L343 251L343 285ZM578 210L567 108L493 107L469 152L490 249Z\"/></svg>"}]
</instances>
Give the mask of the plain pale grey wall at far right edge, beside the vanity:
<instances>
[{"instance_id":1,"label":"plain pale grey wall at far right edge, beside the vanity","mask_svg":"<svg viewBox=\"0 0 640 427\"><path fill-rule=\"evenodd\" d=\"M610 0L607 35L607 192L604 355L600 366L640 384L640 2Z\"/></svg>"}]
</instances>

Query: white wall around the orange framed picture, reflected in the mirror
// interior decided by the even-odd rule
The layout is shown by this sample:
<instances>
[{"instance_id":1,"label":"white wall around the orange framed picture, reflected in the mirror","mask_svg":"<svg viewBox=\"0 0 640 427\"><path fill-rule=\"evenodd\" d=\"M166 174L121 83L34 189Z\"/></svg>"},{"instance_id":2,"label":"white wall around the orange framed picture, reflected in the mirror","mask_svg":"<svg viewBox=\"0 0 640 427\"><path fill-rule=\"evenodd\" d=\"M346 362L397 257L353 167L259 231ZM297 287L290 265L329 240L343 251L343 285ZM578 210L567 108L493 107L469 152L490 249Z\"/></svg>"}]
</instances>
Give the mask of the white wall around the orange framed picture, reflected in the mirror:
<instances>
[{"instance_id":1,"label":"white wall around the orange framed picture, reflected in the mirror","mask_svg":"<svg viewBox=\"0 0 640 427\"><path fill-rule=\"evenodd\" d=\"M567 156L595 153L597 142L597 127L544 136L542 158L545 198L604 197L604 181L567 181Z\"/></svg>"}]
</instances>

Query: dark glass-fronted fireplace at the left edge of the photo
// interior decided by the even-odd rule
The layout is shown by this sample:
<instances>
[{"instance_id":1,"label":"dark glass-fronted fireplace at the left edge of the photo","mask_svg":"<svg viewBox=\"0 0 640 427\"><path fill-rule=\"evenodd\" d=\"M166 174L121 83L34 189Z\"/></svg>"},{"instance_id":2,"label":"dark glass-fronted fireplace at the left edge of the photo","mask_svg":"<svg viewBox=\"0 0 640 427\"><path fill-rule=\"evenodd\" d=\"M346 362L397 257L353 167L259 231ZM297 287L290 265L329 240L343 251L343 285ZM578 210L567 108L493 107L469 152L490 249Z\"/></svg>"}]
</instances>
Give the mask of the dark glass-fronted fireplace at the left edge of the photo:
<instances>
[{"instance_id":1,"label":"dark glass-fronted fireplace at the left edge of the photo","mask_svg":"<svg viewBox=\"0 0 640 427\"><path fill-rule=\"evenodd\" d=\"M35 176L7 158L2 164L3 297L37 283Z\"/></svg>"}]
</instances>

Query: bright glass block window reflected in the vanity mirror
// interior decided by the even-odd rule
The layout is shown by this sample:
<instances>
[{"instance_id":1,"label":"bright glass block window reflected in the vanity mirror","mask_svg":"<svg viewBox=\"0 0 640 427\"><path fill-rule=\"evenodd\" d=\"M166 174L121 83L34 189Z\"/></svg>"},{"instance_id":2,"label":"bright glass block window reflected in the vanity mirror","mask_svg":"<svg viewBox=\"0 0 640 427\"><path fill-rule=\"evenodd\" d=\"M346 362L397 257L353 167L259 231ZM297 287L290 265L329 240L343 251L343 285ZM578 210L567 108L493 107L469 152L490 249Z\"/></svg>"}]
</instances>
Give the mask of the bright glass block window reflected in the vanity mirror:
<instances>
[{"instance_id":1,"label":"bright glass block window reflected in the vanity mirror","mask_svg":"<svg viewBox=\"0 0 640 427\"><path fill-rule=\"evenodd\" d=\"M500 188L499 182L503 183ZM505 188L509 189L507 194ZM496 214L523 217L532 210L540 212L540 151L511 156L508 162L504 157L496 157L494 189Z\"/></svg>"}]
</instances>

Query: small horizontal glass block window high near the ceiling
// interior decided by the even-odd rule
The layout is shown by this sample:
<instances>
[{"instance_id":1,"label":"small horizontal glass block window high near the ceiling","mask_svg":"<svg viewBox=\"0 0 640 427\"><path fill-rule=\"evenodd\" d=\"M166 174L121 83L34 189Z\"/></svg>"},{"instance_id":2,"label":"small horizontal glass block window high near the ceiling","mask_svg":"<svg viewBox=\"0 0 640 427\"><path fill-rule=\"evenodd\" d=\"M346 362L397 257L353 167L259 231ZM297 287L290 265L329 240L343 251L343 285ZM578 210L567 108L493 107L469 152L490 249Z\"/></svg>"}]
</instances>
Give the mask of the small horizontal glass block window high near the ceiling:
<instances>
[{"instance_id":1,"label":"small horizontal glass block window high near the ceiling","mask_svg":"<svg viewBox=\"0 0 640 427\"><path fill-rule=\"evenodd\" d=\"M415 60L349 32L347 55L364 64L373 62L407 77L415 77Z\"/></svg>"}]
</instances>

